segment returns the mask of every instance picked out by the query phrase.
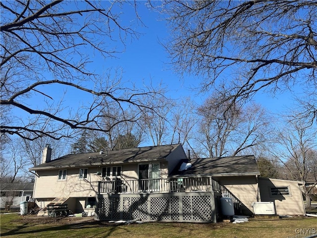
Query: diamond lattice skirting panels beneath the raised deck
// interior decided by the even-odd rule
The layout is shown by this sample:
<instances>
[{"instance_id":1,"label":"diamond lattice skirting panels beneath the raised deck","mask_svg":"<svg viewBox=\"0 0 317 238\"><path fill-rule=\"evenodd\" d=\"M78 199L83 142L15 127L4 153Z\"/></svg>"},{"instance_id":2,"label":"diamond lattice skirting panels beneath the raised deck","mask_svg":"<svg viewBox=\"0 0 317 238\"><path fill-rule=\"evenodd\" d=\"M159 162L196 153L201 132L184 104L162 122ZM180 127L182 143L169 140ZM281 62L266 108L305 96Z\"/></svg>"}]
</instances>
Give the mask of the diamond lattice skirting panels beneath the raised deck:
<instances>
[{"instance_id":1,"label":"diamond lattice skirting panels beneath the raised deck","mask_svg":"<svg viewBox=\"0 0 317 238\"><path fill-rule=\"evenodd\" d=\"M170 222L216 222L213 192L97 195L95 219Z\"/></svg>"}]
</instances>

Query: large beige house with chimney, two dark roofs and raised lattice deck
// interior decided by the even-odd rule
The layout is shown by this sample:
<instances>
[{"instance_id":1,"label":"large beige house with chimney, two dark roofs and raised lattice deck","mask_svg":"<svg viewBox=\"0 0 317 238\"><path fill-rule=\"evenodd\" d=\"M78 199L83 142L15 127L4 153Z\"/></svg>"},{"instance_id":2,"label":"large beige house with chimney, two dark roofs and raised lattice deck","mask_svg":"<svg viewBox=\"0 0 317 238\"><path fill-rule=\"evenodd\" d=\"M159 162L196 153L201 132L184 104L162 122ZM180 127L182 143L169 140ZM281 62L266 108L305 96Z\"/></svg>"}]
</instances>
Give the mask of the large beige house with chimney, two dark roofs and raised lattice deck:
<instances>
[{"instance_id":1,"label":"large beige house with chimney, two dark roofs and raised lattice deck","mask_svg":"<svg viewBox=\"0 0 317 238\"><path fill-rule=\"evenodd\" d=\"M260 190L266 192L254 156L190 161L181 144L50 155L47 146L43 163L30 168L37 204L67 203L96 220L216 222L222 194L232 198L236 214L250 215Z\"/></svg>"}]
</instances>

